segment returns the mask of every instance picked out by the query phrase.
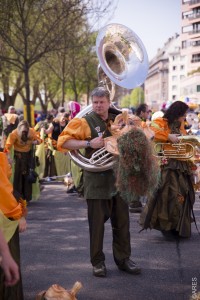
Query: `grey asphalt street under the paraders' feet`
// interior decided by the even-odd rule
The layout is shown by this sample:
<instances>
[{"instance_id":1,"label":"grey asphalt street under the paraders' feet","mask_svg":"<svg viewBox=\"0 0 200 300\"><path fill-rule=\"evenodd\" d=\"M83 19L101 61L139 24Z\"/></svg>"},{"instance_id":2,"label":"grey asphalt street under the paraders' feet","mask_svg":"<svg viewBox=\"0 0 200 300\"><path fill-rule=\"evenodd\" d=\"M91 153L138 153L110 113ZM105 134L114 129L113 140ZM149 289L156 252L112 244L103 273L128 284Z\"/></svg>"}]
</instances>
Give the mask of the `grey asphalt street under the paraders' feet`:
<instances>
[{"instance_id":1,"label":"grey asphalt street under the paraders' feet","mask_svg":"<svg viewBox=\"0 0 200 300\"><path fill-rule=\"evenodd\" d=\"M195 216L200 228L200 199ZM160 232L140 231L139 214L130 213L132 259L140 275L117 269L112 256L110 223L105 225L107 277L92 275L87 208L83 198L67 194L61 183L46 184L28 206L28 229L20 235L25 300L57 283L83 285L78 300L190 300L200 291L200 235L192 224L190 239L166 240ZM14 300L14 299L13 299Z\"/></svg>"}]
</instances>

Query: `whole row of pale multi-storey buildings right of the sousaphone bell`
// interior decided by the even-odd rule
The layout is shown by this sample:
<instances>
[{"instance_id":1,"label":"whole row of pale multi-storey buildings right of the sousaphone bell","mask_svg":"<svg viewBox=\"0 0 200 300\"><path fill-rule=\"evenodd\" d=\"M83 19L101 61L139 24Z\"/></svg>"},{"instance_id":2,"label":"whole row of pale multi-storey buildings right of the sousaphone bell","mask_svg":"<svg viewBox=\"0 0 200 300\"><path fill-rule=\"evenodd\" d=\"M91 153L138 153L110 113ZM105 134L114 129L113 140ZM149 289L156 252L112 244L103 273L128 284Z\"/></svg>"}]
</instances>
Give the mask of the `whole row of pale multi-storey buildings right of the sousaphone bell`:
<instances>
[{"instance_id":1,"label":"whole row of pale multi-storey buildings right of the sousaphone bell","mask_svg":"<svg viewBox=\"0 0 200 300\"><path fill-rule=\"evenodd\" d=\"M154 110L176 100L200 105L200 0L182 0L181 34L149 63L145 101Z\"/></svg>"}]
</instances>

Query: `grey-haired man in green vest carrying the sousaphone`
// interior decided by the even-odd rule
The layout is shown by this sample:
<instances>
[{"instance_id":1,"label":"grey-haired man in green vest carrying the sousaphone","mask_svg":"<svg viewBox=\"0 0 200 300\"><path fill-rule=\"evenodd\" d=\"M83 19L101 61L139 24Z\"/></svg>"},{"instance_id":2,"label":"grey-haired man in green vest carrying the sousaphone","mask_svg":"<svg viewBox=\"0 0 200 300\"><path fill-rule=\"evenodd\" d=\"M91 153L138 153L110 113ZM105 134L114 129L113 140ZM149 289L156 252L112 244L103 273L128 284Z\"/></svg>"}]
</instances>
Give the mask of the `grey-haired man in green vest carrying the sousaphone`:
<instances>
[{"instance_id":1,"label":"grey-haired man in green vest carrying the sousaphone","mask_svg":"<svg viewBox=\"0 0 200 300\"><path fill-rule=\"evenodd\" d=\"M93 112L83 118L72 119L58 138L58 150L85 149L86 155L104 146L104 137L110 136L108 127L116 115L109 113L110 94L98 87L91 94ZM130 259L128 204L116 193L114 171L83 170L84 198L88 207L90 233L90 261L93 275L106 276L103 252L104 225L110 219L113 235L113 256L120 270L139 274L141 269Z\"/></svg>"}]
</instances>

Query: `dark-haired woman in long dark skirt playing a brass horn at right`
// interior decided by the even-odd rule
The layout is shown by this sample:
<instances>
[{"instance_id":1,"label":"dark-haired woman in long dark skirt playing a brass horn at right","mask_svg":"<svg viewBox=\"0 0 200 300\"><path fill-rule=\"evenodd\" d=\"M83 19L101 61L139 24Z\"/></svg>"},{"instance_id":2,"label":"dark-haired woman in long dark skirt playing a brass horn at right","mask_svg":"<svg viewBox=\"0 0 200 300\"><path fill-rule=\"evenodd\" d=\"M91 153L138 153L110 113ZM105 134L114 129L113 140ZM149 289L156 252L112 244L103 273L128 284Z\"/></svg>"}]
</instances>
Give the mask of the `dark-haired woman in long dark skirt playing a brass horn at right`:
<instances>
[{"instance_id":1,"label":"dark-haired woman in long dark skirt playing a brass horn at right","mask_svg":"<svg viewBox=\"0 0 200 300\"><path fill-rule=\"evenodd\" d=\"M155 142L179 143L178 136L186 135L184 121L188 105L176 101L163 117L152 121ZM154 197L148 199L140 217L143 229L160 230L165 235L190 237L195 193L191 162L185 158L161 159L161 182Z\"/></svg>"}]
</instances>

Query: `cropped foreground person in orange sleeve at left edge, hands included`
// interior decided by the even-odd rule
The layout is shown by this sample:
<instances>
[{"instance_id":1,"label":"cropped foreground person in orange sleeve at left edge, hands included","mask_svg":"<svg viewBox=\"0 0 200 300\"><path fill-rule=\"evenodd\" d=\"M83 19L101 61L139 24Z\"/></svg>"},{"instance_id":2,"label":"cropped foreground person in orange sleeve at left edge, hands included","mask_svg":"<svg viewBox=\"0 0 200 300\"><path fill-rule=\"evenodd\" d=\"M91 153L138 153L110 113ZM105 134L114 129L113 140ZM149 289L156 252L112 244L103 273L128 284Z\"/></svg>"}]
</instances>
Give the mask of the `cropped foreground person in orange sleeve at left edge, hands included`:
<instances>
[{"instance_id":1,"label":"cropped foreground person in orange sleeve at left edge, hands included","mask_svg":"<svg viewBox=\"0 0 200 300\"><path fill-rule=\"evenodd\" d=\"M26 230L27 209L26 201L13 195L10 170L7 155L0 152L0 295L2 300L23 300L19 232Z\"/></svg>"}]
</instances>

